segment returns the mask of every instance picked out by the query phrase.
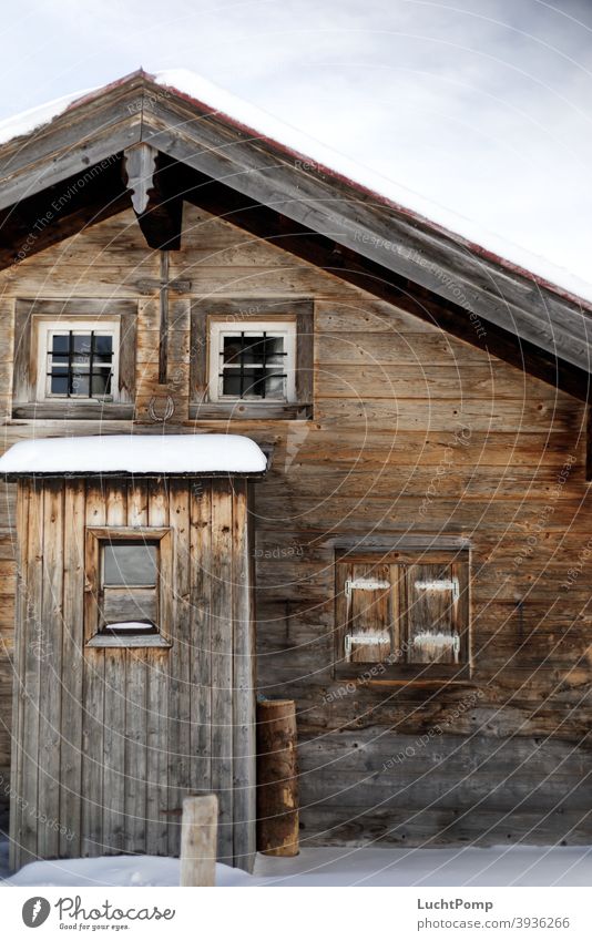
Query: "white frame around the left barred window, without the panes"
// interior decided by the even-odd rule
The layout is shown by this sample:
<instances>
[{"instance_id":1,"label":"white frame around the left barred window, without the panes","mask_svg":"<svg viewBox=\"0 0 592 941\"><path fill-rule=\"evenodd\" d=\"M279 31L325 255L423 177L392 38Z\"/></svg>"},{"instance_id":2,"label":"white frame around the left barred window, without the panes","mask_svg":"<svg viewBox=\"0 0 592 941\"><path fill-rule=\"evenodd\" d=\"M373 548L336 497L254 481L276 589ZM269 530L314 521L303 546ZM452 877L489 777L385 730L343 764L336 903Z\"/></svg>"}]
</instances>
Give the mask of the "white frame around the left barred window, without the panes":
<instances>
[{"instance_id":1,"label":"white frame around the left barred window, without the panes","mask_svg":"<svg viewBox=\"0 0 592 941\"><path fill-rule=\"evenodd\" d=\"M111 365L111 393L109 396L57 396L51 395L48 376L48 357L50 340L53 334L84 333L113 337L113 359ZM78 402L116 402L119 400L119 365L120 365L120 320L119 319L80 319L40 320L38 325L37 356L37 401L78 401Z\"/></svg>"}]
</instances>

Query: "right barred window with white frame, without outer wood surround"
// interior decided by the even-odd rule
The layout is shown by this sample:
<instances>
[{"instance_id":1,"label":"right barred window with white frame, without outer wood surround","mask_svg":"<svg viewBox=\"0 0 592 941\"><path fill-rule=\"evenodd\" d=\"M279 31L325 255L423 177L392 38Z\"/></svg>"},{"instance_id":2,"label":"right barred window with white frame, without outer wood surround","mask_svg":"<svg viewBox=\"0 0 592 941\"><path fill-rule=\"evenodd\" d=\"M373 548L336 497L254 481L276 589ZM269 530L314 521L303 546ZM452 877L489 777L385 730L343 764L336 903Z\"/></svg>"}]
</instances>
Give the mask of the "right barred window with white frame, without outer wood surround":
<instances>
[{"instance_id":1,"label":"right barred window with white frame, without outer wood surround","mask_svg":"<svg viewBox=\"0 0 592 941\"><path fill-rule=\"evenodd\" d=\"M293 402L296 325L273 320L211 326L210 397Z\"/></svg>"}]
</instances>

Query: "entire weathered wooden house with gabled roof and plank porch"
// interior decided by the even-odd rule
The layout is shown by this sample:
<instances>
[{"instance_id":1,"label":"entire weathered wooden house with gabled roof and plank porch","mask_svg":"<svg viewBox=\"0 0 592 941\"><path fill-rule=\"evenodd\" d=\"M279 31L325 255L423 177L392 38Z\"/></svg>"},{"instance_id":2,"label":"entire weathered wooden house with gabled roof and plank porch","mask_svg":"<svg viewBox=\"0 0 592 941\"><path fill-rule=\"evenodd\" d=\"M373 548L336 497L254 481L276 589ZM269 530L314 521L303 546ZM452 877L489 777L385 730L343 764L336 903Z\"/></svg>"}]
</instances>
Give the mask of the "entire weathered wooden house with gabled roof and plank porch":
<instances>
[{"instance_id":1,"label":"entire weathered wooden house with gabled roof and plank porch","mask_svg":"<svg viewBox=\"0 0 592 941\"><path fill-rule=\"evenodd\" d=\"M213 789L248 865L255 692L304 846L590 842L592 305L142 72L2 144L0 234L14 861ZM212 434L265 477L125 470Z\"/></svg>"}]
</instances>

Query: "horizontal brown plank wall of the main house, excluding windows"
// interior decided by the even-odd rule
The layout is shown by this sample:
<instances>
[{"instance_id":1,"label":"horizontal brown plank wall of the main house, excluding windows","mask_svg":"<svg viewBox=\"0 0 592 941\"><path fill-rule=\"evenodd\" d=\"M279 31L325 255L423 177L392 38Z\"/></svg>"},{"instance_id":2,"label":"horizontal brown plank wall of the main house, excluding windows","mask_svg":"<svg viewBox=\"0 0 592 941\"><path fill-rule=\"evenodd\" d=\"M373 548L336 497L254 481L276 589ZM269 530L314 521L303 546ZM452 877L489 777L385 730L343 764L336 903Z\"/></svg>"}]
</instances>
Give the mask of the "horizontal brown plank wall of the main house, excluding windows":
<instances>
[{"instance_id":1,"label":"horizontal brown plank wall of the main house, excluding windows","mask_svg":"<svg viewBox=\"0 0 592 941\"><path fill-rule=\"evenodd\" d=\"M170 430L229 428L275 449L268 479L256 485L258 682L263 694L298 704L303 839L589 842L592 513L583 406L227 222L185 207L184 226L171 264L173 277L192 280L191 295L171 295L176 379L172 370L167 387L156 385L157 305L136 282L157 277L157 258L125 213L0 282L4 412L16 297L137 298L137 418L146 430L161 430L149 420L150 397L171 395ZM186 419L191 296L315 299L312 421ZM99 430L70 419L8 421L4 443ZM10 489L3 508L2 600L11 603ZM334 538L370 531L471 539L473 687L333 681ZM216 591L205 580L195 586L198 597ZM0 617L8 728L8 606ZM212 668L224 674L220 659ZM204 761L201 733L190 745ZM8 746L3 732L2 768Z\"/></svg>"}]
</instances>

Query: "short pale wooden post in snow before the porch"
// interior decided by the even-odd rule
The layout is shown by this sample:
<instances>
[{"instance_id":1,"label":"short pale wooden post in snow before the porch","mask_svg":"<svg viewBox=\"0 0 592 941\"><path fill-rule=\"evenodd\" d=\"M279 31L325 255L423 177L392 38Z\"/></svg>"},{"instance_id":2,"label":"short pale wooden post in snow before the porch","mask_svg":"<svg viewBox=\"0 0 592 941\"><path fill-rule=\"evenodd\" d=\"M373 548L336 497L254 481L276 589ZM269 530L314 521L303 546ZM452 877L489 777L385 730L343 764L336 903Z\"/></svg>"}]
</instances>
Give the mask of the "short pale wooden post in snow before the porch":
<instances>
[{"instance_id":1,"label":"short pale wooden post in snow before the porch","mask_svg":"<svg viewBox=\"0 0 592 941\"><path fill-rule=\"evenodd\" d=\"M181 821L181 884L216 884L218 799L215 794L186 797Z\"/></svg>"}]
</instances>

